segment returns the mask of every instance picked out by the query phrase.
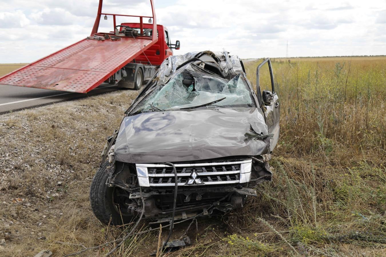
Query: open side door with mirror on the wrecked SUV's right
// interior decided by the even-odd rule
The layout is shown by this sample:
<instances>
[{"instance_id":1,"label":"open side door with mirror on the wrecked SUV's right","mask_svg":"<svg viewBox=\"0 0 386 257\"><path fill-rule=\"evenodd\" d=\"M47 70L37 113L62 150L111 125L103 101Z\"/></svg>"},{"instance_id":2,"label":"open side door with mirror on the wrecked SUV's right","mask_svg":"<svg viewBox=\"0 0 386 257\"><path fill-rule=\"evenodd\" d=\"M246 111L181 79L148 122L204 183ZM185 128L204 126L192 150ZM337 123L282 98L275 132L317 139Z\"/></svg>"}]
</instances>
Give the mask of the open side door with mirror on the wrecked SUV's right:
<instances>
[{"instance_id":1,"label":"open side door with mirror on the wrecked SUV's right","mask_svg":"<svg viewBox=\"0 0 386 257\"><path fill-rule=\"evenodd\" d=\"M261 68L268 66L271 90L262 90L260 87L260 77L261 77ZM259 100L260 108L264 111L264 118L268 126L268 133L272 133L273 137L271 138L270 151L278 143L279 139L279 120L280 120L280 106L279 106L279 97L275 92L273 72L271 66L271 60L269 58L265 59L256 69L256 94Z\"/></svg>"}]
</instances>

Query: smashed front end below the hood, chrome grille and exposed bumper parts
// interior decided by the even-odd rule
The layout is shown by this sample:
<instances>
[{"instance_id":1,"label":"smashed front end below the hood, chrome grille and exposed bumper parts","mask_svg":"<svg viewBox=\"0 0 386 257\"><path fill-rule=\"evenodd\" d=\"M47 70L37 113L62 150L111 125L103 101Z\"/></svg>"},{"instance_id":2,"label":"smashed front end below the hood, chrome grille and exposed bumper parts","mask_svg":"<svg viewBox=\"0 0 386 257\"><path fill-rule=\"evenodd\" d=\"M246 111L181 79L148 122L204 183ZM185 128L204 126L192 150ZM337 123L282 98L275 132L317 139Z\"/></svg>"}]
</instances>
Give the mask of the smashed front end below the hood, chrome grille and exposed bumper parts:
<instances>
[{"instance_id":1,"label":"smashed front end below the hood, chrome grille and exposed bumper parts","mask_svg":"<svg viewBox=\"0 0 386 257\"><path fill-rule=\"evenodd\" d=\"M115 162L109 186L127 193L131 213L164 222L173 213L175 176L171 166L158 163ZM229 212L243 207L247 196L257 196L254 187L272 179L266 156L175 163L177 205L175 219L210 215L214 210ZM118 171L118 172L116 172ZM142 193L138 186L141 186ZM144 204L142 203L142 197Z\"/></svg>"}]
</instances>

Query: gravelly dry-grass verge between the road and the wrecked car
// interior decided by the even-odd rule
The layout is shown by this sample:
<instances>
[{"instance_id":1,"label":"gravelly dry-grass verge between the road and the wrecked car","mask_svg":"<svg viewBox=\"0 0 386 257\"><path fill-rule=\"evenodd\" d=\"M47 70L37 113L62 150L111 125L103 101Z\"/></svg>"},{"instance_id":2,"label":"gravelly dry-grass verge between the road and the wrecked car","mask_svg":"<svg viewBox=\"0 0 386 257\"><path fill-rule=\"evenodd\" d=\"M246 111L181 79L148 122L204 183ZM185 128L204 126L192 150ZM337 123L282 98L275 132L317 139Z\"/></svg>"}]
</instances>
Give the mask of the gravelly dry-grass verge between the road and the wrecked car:
<instances>
[{"instance_id":1,"label":"gravelly dry-grass verge between the road and the wrecked car","mask_svg":"<svg viewBox=\"0 0 386 257\"><path fill-rule=\"evenodd\" d=\"M7 244L0 255L51 249L61 256L80 249L71 244L92 246L124 233L100 225L88 191L105 139L136 94L114 92L0 117L0 239Z\"/></svg>"}]
</instances>

